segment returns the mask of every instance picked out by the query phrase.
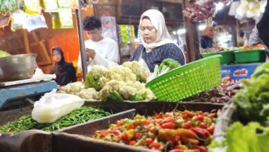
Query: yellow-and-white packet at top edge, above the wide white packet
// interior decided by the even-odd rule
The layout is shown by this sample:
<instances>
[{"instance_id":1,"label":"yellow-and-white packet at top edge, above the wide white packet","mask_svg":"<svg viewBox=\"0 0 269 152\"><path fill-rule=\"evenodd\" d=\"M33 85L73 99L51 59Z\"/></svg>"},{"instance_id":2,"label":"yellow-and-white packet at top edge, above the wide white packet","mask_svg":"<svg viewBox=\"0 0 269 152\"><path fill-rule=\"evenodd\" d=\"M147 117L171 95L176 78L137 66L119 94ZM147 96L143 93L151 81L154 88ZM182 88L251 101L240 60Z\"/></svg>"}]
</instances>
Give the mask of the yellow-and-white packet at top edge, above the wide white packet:
<instances>
[{"instance_id":1,"label":"yellow-and-white packet at top edge, above the wide white packet","mask_svg":"<svg viewBox=\"0 0 269 152\"><path fill-rule=\"evenodd\" d=\"M41 12L39 0L24 0L24 5L28 15L39 15Z\"/></svg>"}]
</instances>

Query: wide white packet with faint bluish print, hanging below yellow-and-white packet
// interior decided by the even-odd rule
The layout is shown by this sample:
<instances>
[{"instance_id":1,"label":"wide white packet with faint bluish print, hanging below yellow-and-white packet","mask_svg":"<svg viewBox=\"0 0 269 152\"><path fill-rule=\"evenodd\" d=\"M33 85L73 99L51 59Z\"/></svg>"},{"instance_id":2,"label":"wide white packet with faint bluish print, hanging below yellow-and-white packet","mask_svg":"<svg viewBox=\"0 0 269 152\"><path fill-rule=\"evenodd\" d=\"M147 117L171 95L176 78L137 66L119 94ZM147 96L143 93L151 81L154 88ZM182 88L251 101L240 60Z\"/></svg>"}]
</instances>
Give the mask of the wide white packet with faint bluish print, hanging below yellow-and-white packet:
<instances>
[{"instance_id":1,"label":"wide white packet with faint bluish print, hanging below yellow-and-white packet","mask_svg":"<svg viewBox=\"0 0 269 152\"><path fill-rule=\"evenodd\" d=\"M43 15L26 15L26 21L23 24L23 28L30 32L37 28L48 28L48 26Z\"/></svg>"}]
</instances>

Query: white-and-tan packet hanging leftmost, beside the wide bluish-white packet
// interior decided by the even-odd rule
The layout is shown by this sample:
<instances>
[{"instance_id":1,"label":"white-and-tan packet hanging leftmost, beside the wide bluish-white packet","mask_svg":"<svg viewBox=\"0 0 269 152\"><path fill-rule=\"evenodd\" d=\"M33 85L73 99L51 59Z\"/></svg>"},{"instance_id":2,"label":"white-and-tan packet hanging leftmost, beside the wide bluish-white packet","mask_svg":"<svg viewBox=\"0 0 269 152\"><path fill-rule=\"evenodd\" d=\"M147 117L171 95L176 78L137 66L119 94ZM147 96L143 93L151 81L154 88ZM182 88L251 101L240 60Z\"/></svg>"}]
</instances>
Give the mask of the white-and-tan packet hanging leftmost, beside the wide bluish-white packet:
<instances>
[{"instance_id":1,"label":"white-and-tan packet hanging leftmost, beside the wide bluish-white packet","mask_svg":"<svg viewBox=\"0 0 269 152\"><path fill-rule=\"evenodd\" d=\"M26 14L22 10L17 10L11 15L11 30L19 30L23 28L26 21Z\"/></svg>"}]
</instances>

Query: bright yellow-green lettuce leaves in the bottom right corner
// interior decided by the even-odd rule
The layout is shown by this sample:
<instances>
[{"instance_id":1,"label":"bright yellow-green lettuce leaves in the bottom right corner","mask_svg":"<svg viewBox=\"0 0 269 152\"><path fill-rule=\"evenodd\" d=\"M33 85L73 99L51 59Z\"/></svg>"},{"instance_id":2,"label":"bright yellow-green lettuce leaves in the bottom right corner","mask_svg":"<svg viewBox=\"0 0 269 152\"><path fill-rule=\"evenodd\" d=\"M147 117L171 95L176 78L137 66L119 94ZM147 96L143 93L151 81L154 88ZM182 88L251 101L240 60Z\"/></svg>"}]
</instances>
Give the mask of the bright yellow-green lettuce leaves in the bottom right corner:
<instances>
[{"instance_id":1,"label":"bright yellow-green lettuce leaves in the bottom right corner","mask_svg":"<svg viewBox=\"0 0 269 152\"><path fill-rule=\"evenodd\" d=\"M269 145L268 128L263 128L257 122L250 122L243 126L235 122L228 127L226 138L213 141L208 146L209 152L267 152Z\"/></svg>"}]
</instances>

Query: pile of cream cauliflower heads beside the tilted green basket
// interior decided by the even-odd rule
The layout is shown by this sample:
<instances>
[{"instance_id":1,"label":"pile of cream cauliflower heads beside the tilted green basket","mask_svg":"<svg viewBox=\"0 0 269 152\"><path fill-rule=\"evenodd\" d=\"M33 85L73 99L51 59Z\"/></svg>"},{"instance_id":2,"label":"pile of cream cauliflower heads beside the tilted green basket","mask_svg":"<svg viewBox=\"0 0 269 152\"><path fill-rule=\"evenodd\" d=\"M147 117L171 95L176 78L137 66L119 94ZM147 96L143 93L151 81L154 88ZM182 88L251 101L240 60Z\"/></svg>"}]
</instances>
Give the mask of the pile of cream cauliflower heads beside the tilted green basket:
<instances>
[{"instance_id":1,"label":"pile of cream cauliflower heads beside the tilted green basket","mask_svg":"<svg viewBox=\"0 0 269 152\"><path fill-rule=\"evenodd\" d=\"M150 73L137 61L121 66L92 66L85 85L75 82L63 87L63 92L79 95L86 100L152 100L155 95L146 88ZM91 99L90 99L91 98Z\"/></svg>"}]
</instances>

